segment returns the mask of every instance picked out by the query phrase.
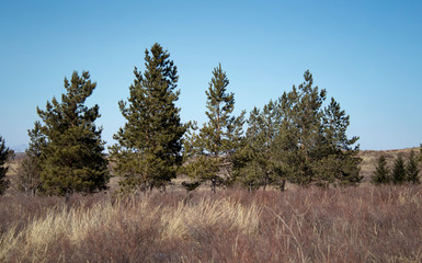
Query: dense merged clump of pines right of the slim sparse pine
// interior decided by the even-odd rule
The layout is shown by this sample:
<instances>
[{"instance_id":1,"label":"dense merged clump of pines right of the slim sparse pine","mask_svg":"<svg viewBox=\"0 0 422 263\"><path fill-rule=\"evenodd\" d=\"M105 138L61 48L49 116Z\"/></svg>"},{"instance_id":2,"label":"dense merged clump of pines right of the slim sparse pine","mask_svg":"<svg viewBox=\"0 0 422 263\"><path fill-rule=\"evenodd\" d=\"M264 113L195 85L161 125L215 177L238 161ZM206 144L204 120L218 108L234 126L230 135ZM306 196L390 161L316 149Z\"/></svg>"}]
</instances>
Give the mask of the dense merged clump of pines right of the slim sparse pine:
<instances>
[{"instance_id":1,"label":"dense merged clump of pines right of the slim sparse pine","mask_svg":"<svg viewBox=\"0 0 422 263\"><path fill-rule=\"evenodd\" d=\"M358 137L346 136L349 115L334 99L324 106L327 91L313 85L309 71L304 79L263 111L251 112L242 158L235 163L250 188L274 184L283 191L286 181L327 187L362 180Z\"/></svg>"}]
</instances>

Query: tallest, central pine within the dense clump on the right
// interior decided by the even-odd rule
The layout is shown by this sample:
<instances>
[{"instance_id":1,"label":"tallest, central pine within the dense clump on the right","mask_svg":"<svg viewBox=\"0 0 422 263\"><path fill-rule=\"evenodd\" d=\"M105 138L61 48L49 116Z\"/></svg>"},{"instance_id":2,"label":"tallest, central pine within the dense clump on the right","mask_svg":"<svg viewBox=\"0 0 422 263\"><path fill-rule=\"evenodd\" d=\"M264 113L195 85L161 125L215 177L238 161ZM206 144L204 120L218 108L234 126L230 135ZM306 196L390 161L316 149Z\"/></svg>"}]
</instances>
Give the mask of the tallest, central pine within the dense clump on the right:
<instances>
[{"instance_id":1,"label":"tallest, central pine within the dense clump on the right","mask_svg":"<svg viewBox=\"0 0 422 263\"><path fill-rule=\"evenodd\" d=\"M284 167L289 174L289 181L300 185L313 182L315 170L312 164L318 146L322 103L326 100L326 90L313 87L313 78L309 71L304 75L305 81L290 92L284 92L280 98L282 107L281 141L290 141L285 151Z\"/></svg>"}]
</instances>

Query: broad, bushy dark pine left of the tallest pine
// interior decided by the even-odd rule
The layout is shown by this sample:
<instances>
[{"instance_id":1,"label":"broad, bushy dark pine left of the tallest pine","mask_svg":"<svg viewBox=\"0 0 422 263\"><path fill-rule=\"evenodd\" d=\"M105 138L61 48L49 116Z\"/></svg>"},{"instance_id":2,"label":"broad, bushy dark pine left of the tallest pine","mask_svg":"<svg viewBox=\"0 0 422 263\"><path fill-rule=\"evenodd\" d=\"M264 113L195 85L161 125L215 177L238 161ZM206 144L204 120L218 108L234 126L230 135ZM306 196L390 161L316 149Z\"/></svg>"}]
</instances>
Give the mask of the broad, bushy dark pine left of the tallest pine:
<instances>
[{"instance_id":1,"label":"broad, bushy dark pine left of the tallest pine","mask_svg":"<svg viewBox=\"0 0 422 263\"><path fill-rule=\"evenodd\" d=\"M44 137L46 147L41 148L41 180L45 194L92 193L106 188L107 160L103 153L102 128L95 126L100 117L99 106L87 107L85 100L96 83L91 82L88 71L81 77L73 71L70 82L65 78L66 93L61 102L53 98L46 110L37 107L44 125L35 137Z\"/></svg>"}]
</instances>

